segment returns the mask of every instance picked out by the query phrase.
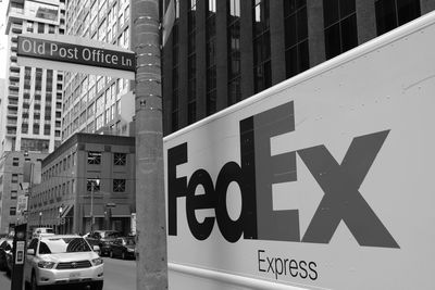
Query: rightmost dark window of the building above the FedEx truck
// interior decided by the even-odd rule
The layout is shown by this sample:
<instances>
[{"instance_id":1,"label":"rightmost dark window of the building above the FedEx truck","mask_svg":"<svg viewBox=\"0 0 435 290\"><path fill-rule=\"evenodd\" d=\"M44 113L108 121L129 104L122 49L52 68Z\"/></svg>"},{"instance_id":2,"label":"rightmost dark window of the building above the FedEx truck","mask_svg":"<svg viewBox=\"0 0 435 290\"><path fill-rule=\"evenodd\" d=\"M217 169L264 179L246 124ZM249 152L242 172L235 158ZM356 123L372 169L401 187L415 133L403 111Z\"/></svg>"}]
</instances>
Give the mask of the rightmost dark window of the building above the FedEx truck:
<instances>
[{"instance_id":1,"label":"rightmost dark window of the building above the FedEx truck","mask_svg":"<svg viewBox=\"0 0 435 290\"><path fill-rule=\"evenodd\" d=\"M421 14L419 0L377 0L375 9L377 35L385 34Z\"/></svg>"}]
</instances>

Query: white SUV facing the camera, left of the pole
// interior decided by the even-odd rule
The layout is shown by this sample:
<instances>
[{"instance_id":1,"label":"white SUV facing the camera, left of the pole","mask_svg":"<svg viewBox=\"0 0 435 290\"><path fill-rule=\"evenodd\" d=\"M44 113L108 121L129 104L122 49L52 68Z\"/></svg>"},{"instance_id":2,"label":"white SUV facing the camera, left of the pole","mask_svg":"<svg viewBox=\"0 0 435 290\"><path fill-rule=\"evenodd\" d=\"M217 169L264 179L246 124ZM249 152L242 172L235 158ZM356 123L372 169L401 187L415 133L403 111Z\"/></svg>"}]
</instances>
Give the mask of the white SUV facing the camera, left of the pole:
<instances>
[{"instance_id":1,"label":"white SUV facing the camera, left of the pole","mask_svg":"<svg viewBox=\"0 0 435 290\"><path fill-rule=\"evenodd\" d=\"M104 264L96 250L78 235L36 237L27 247L24 280L30 289L73 285L101 290Z\"/></svg>"}]
</instances>

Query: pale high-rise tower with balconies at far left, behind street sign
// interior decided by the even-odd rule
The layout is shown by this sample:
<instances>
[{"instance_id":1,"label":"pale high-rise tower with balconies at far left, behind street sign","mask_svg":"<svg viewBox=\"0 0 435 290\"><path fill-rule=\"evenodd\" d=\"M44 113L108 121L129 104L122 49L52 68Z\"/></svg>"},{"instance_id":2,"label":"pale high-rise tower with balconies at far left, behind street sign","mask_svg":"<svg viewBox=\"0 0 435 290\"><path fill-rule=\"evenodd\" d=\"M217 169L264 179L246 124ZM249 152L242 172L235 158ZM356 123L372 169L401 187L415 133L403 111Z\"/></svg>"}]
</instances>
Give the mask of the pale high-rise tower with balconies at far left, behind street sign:
<instances>
[{"instance_id":1,"label":"pale high-rise tower with balconies at far left, behind street sign","mask_svg":"<svg viewBox=\"0 0 435 290\"><path fill-rule=\"evenodd\" d=\"M8 89L1 108L5 126L2 151L51 152L61 141L63 73L16 63L21 34L63 34L64 3L11 0L7 11L9 37Z\"/></svg>"}]
</instances>

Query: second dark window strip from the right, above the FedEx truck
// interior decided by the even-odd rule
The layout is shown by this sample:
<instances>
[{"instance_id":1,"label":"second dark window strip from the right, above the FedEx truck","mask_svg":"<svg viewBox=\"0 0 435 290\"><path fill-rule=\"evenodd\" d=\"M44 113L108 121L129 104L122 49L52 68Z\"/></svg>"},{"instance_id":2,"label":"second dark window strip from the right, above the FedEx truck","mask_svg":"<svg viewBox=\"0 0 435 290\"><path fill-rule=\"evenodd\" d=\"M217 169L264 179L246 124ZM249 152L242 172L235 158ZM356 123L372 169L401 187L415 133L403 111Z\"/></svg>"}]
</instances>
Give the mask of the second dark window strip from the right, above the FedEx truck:
<instances>
[{"instance_id":1,"label":"second dark window strip from the right, above the FedEx truck","mask_svg":"<svg viewBox=\"0 0 435 290\"><path fill-rule=\"evenodd\" d=\"M323 17L327 60L358 46L355 0L324 0Z\"/></svg>"}]
</instances>

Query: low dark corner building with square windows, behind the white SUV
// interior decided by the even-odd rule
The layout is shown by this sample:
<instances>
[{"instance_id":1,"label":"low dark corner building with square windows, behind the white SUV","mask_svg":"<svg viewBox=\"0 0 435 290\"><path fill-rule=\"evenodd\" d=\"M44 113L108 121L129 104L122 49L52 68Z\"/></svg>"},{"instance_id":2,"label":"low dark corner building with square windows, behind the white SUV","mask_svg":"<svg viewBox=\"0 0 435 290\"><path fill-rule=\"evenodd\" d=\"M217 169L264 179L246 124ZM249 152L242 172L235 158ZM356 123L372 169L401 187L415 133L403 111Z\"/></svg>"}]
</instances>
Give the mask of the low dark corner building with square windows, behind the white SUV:
<instances>
[{"instance_id":1,"label":"low dark corner building with square windows, behind the white SUV","mask_svg":"<svg viewBox=\"0 0 435 290\"><path fill-rule=\"evenodd\" d=\"M41 184L30 189L29 228L129 232L136 212L135 138L75 134L42 161L41 173Z\"/></svg>"}]
</instances>

